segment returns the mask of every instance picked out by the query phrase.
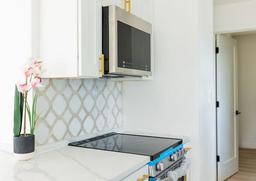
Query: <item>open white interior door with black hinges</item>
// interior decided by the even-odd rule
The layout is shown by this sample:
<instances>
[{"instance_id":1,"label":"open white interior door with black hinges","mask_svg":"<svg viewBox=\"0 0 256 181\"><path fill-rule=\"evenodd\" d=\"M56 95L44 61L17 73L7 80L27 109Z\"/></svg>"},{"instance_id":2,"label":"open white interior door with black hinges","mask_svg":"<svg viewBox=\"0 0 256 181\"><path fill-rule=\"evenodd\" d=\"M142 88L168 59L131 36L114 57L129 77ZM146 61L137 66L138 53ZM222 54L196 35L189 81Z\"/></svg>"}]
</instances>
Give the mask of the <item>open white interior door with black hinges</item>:
<instances>
[{"instance_id":1,"label":"open white interior door with black hinges","mask_svg":"<svg viewBox=\"0 0 256 181\"><path fill-rule=\"evenodd\" d=\"M216 35L216 47L217 174L223 181L238 172L237 41Z\"/></svg>"}]
</instances>

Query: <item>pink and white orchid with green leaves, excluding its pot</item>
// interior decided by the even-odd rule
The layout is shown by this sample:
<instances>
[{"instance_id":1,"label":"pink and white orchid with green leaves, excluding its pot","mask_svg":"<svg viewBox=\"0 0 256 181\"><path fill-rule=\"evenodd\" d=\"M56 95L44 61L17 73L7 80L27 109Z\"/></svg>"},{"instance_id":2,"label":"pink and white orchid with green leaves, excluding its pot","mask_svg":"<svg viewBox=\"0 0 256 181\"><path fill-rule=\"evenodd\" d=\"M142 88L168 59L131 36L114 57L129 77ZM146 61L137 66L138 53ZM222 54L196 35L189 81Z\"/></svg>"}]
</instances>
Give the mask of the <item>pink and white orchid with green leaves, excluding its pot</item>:
<instances>
[{"instance_id":1,"label":"pink and white orchid with green leaves, excluding its pot","mask_svg":"<svg viewBox=\"0 0 256 181\"><path fill-rule=\"evenodd\" d=\"M28 105L27 101L29 91L31 91L35 87L43 87L43 85L40 84L42 79L39 76L46 70L42 69L41 63L42 61L34 60L31 57L29 57L27 63L20 67L22 73L25 76L25 83L20 81L16 83L14 97L14 136L20 136L22 118L24 118L23 136L26 137L26 113L28 113L28 119L30 122L30 136L32 136L34 134L35 124L40 114L42 113L41 112L38 116L36 116L36 101L38 94L37 91L33 98L32 109L30 109L30 106Z\"/></svg>"}]
</instances>

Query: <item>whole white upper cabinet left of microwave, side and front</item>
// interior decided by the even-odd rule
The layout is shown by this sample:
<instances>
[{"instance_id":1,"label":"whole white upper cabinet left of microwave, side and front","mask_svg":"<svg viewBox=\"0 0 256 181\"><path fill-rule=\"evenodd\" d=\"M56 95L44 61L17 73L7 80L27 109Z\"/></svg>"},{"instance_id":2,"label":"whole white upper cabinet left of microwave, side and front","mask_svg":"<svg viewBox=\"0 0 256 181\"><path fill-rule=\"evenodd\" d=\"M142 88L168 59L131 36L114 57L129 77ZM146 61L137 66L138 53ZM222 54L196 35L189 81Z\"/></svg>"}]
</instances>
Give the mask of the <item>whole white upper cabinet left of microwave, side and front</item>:
<instances>
[{"instance_id":1,"label":"whole white upper cabinet left of microwave, side and front","mask_svg":"<svg viewBox=\"0 0 256 181\"><path fill-rule=\"evenodd\" d=\"M43 78L102 77L102 0L39 0Z\"/></svg>"}]
</instances>

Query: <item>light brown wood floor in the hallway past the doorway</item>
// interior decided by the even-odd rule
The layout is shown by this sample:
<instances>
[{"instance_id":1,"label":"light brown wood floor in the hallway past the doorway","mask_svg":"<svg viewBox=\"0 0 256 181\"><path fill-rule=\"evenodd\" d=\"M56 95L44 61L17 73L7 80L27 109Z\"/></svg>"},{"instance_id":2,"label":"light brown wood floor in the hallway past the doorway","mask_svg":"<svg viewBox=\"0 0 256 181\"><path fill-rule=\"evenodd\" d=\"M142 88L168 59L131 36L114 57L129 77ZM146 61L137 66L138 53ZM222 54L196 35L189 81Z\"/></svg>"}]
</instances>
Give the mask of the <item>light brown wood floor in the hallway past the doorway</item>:
<instances>
[{"instance_id":1,"label":"light brown wood floor in the hallway past the doorway","mask_svg":"<svg viewBox=\"0 0 256 181\"><path fill-rule=\"evenodd\" d=\"M226 181L256 181L256 149L239 148L238 173Z\"/></svg>"}]
</instances>

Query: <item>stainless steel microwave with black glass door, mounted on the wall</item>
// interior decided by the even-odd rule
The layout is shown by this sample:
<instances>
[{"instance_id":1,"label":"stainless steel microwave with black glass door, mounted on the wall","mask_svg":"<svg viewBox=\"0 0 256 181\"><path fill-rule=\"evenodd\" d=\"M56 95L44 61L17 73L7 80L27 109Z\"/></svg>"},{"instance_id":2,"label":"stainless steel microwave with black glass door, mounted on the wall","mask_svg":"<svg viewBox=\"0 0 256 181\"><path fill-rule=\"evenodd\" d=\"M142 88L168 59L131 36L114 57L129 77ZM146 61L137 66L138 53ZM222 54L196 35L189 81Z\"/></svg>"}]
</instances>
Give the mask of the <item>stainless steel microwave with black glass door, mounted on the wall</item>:
<instances>
[{"instance_id":1,"label":"stainless steel microwave with black glass door, mounted on the wall","mask_svg":"<svg viewBox=\"0 0 256 181\"><path fill-rule=\"evenodd\" d=\"M149 22L118 6L102 7L102 76L151 76L151 39Z\"/></svg>"}]
</instances>

